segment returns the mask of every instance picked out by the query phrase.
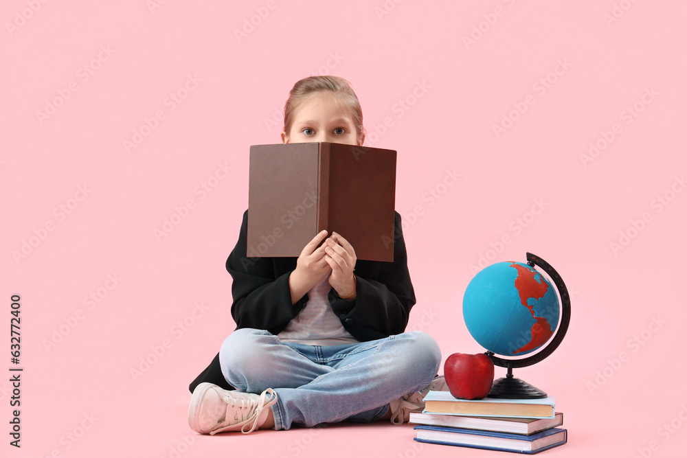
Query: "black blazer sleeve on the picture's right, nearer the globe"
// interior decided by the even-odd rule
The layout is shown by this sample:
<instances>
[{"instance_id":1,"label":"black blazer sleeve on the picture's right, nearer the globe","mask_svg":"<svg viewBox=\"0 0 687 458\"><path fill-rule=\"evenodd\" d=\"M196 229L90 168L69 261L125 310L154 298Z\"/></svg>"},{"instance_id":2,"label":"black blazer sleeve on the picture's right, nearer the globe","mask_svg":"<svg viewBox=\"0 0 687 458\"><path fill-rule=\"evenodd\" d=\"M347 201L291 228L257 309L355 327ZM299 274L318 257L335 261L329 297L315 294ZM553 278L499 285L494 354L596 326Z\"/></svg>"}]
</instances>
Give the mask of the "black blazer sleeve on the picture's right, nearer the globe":
<instances>
[{"instance_id":1,"label":"black blazer sleeve on the picture's right, nearer the globe","mask_svg":"<svg viewBox=\"0 0 687 458\"><path fill-rule=\"evenodd\" d=\"M416 299L398 212L394 218L394 261L365 265L364 273L356 275L356 299L341 299L332 290L329 295L332 309L344 328L359 341L403 333Z\"/></svg>"}]
</instances>

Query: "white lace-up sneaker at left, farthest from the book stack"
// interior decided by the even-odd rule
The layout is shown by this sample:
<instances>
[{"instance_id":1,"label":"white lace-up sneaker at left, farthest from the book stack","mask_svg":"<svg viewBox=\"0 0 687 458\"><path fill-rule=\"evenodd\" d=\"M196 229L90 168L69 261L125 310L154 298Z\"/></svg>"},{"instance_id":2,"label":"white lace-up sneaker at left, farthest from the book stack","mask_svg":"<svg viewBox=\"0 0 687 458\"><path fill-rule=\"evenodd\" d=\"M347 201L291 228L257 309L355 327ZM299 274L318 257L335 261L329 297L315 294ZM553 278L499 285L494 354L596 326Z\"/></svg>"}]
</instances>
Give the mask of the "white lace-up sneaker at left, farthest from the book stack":
<instances>
[{"instance_id":1,"label":"white lace-up sneaker at left, farthest from the book stack","mask_svg":"<svg viewBox=\"0 0 687 458\"><path fill-rule=\"evenodd\" d=\"M267 395L270 396L269 401ZM251 433L262 426L269 407L275 402L277 393L271 388L258 395L227 391L212 383L201 383L191 395L188 426L201 434L215 435L223 431Z\"/></svg>"}]
</instances>

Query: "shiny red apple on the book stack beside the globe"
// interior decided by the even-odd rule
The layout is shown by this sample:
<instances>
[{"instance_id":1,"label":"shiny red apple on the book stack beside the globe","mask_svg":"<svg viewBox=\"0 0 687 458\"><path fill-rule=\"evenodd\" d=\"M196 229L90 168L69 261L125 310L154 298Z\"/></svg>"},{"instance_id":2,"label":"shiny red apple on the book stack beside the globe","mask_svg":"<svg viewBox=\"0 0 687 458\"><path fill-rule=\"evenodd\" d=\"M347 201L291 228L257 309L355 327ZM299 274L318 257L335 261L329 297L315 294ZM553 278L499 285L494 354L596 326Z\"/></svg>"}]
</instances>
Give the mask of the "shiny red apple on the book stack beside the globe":
<instances>
[{"instance_id":1,"label":"shiny red apple on the book stack beside the globe","mask_svg":"<svg viewBox=\"0 0 687 458\"><path fill-rule=\"evenodd\" d=\"M444 363L444 378L453 398L482 399L494 382L494 363L484 353L454 353Z\"/></svg>"}]
</instances>

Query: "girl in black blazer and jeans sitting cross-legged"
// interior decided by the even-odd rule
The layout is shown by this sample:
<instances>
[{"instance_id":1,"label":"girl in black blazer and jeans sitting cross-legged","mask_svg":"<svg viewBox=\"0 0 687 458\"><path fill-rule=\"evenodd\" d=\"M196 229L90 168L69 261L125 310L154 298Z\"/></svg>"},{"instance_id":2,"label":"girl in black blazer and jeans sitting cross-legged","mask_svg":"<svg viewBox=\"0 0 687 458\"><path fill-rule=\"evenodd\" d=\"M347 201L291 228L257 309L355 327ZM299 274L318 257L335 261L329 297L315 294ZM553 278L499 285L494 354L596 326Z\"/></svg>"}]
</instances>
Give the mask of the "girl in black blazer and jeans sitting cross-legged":
<instances>
[{"instance_id":1,"label":"girl in black blazer and jeans sitting cross-legged","mask_svg":"<svg viewBox=\"0 0 687 458\"><path fill-rule=\"evenodd\" d=\"M285 144L362 146L363 115L348 82L297 82L281 135ZM423 409L423 392L442 389L444 380L433 380L441 360L436 342L404 332L415 293L401 216L396 212L394 262L373 262L357 261L345 238L326 231L297 258L248 259L247 214L227 259L236 330L191 384L189 426L212 435L343 420L398 424Z\"/></svg>"}]
</instances>

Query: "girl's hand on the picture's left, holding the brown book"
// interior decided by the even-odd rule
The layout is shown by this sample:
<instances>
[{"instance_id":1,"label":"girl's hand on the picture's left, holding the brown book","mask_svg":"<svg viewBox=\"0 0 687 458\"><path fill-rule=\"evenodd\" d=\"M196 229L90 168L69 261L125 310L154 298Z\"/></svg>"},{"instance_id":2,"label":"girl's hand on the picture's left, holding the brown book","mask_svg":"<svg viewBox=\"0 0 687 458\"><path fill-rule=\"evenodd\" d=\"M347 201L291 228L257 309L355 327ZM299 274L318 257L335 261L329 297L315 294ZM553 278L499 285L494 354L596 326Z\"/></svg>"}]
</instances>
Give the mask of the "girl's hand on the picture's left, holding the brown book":
<instances>
[{"instance_id":1,"label":"girl's hand on the picture's left, holding the brown book","mask_svg":"<svg viewBox=\"0 0 687 458\"><path fill-rule=\"evenodd\" d=\"M298 256L296 268L289 275L291 304L295 304L329 272L329 264L324 259L325 245L322 244L322 247L318 247L326 235L327 231L318 233L313 240L306 244Z\"/></svg>"}]
</instances>

